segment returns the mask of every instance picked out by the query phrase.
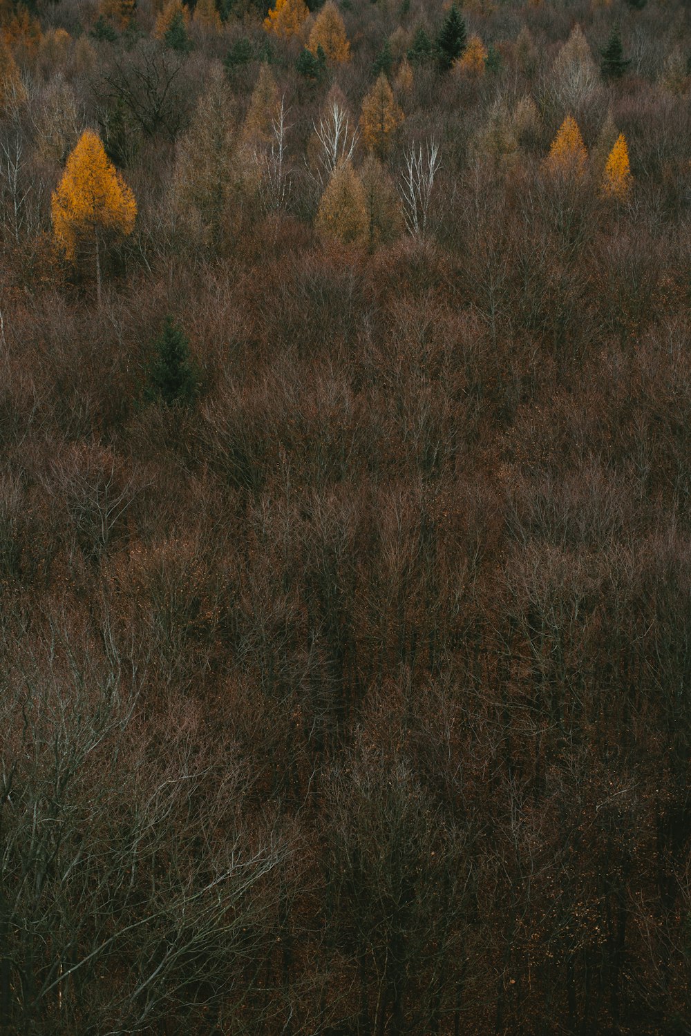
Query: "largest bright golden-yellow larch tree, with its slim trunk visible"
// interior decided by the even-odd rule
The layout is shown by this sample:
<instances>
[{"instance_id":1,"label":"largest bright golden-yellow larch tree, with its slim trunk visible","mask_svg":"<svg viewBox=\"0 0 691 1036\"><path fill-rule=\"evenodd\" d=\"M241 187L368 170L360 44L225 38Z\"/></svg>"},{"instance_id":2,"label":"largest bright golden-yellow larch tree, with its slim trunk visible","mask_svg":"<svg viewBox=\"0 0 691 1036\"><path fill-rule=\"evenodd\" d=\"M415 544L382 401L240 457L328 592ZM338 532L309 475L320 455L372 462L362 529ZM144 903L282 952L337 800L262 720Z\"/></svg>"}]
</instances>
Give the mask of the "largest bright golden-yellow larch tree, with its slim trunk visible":
<instances>
[{"instance_id":1,"label":"largest bright golden-yellow larch tree, with its slim trunk visible","mask_svg":"<svg viewBox=\"0 0 691 1036\"><path fill-rule=\"evenodd\" d=\"M137 202L92 130L84 131L67 159L51 211L55 240L65 257L76 262L83 253L93 255L100 301L102 249L132 233Z\"/></svg>"}]
</instances>

